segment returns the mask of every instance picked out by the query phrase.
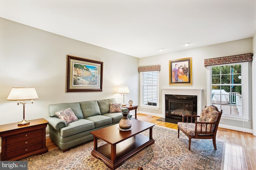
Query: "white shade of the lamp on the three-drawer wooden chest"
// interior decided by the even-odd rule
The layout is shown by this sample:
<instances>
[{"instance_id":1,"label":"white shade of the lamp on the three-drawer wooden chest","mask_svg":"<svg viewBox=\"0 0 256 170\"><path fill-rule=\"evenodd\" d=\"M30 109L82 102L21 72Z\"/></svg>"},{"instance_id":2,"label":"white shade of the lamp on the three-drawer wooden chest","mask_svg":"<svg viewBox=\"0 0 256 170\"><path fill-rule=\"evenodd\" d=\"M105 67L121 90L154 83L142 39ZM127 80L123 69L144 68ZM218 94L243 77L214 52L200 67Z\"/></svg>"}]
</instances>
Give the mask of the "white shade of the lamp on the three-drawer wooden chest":
<instances>
[{"instance_id":1,"label":"white shade of the lamp on the three-drawer wooden chest","mask_svg":"<svg viewBox=\"0 0 256 170\"><path fill-rule=\"evenodd\" d=\"M36 89L33 87L13 87L7 100L33 100L38 99Z\"/></svg>"}]
</instances>

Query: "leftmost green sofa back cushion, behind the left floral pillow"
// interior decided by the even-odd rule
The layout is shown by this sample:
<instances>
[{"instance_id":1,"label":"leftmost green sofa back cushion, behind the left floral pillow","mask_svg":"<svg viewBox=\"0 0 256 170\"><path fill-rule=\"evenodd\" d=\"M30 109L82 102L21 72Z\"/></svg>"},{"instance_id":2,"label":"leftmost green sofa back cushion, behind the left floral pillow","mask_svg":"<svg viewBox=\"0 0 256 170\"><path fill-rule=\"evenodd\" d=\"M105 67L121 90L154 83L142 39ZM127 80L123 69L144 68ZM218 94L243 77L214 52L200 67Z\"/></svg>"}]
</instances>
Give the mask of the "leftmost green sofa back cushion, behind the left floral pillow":
<instances>
[{"instance_id":1,"label":"leftmost green sofa back cushion, behind the left floral pillow","mask_svg":"<svg viewBox=\"0 0 256 170\"><path fill-rule=\"evenodd\" d=\"M58 117L56 115L56 112L60 111L60 110L67 109L67 108L72 109L72 111L75 113L75 115L78 119L84 118L79 102L77 102L77 103L50 104L48 106L48 114L49 114L50 117Z\"/></svg>"}]
</instances>

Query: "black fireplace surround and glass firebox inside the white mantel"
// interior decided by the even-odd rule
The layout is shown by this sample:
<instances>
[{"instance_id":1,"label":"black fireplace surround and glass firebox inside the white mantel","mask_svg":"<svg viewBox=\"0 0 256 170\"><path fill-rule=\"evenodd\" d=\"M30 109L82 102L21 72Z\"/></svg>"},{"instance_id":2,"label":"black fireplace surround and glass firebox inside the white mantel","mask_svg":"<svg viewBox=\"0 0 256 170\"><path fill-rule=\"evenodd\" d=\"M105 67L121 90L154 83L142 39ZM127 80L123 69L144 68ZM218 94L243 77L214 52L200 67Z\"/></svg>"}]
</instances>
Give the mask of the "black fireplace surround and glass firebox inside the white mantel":
<instances>
[{"instance_id":1,"label":"black fireplace surround and glass firebox inside the white mantel","mask_svg":"<svg viewBox=\"0 0 256 170\"><path fill-rule=\"evenodd\" d=\"M165 118L177 123L182 114L197 115L197 96L165 94Z\"/></svg>"}]
</instances>

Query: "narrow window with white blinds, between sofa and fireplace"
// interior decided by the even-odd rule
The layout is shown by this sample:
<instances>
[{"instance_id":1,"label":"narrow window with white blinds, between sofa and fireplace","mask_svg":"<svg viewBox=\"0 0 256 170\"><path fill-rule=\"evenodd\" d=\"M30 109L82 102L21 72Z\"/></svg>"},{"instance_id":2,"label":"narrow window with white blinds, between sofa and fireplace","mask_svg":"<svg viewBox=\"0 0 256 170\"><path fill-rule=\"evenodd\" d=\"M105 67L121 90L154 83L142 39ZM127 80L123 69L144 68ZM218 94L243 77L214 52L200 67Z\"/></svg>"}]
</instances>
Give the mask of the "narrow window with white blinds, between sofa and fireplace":
<instances>
[{"instance_id":1,"label":"narrow window with white blinds, between sofa and fireplace","mask_svg":"<svg viewBox=\"0 0 256 170\"><path fill-rule=\"evenodd\" d=\"M159 71L140 72L141 80L141 106L159 106Z\"/></svg>"}]
</instances>

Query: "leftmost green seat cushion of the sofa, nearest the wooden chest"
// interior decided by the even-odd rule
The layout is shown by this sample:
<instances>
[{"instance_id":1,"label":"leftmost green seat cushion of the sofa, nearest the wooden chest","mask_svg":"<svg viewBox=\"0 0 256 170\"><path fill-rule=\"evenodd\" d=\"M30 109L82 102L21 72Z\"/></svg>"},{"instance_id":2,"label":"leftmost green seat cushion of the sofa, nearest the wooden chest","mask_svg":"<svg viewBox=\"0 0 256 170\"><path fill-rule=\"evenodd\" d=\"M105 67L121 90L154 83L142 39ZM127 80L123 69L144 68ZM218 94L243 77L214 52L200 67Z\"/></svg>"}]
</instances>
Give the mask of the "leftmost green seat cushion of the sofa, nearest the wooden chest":
<instances>
[{"instance_id":1,"label":"leftmost green seat cushion of the sofa, nearest the wooden chest","mask_svg":"<svg viewBox=\"0 0 256 170\"><path fill-rule=\"evenodd\" d=\"M95 128L94 122L86 119L78 119L77 121L69 123L67 127L61 128L60 137L68 137L76 133L88 131L94 128Z\"/></svg>"}]
</instances>

